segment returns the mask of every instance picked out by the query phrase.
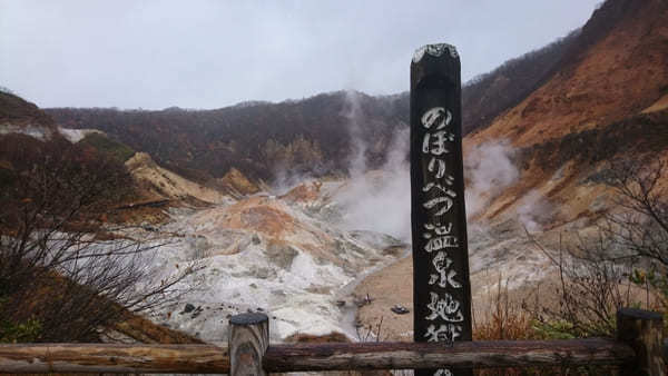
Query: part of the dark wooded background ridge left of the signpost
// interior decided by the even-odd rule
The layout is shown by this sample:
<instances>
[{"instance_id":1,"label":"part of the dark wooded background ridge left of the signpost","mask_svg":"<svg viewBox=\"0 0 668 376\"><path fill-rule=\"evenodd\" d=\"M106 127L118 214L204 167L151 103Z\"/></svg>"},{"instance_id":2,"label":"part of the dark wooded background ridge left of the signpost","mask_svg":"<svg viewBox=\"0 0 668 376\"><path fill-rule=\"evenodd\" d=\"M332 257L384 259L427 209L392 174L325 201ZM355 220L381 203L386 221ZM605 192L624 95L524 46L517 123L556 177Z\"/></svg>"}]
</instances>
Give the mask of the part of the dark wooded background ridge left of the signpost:
<instances>
[{"instance_id":1,"label":"part of the dark wooded background ridge left of the signpost","mask_svg":"<svg viewBox=\"0 0 668 376\"><path fill-rule=\"evenodd\" d=\"M218 110L119 111L50 109L67 128L96 128L158 164L197 180L222 178L237 168L253 178L272 178L281 167L313 174L346 172L351 132L380 165L393 130L405 127L407 101L345 92L299 101L250 103Z\"/></svg>"}]
</instances>

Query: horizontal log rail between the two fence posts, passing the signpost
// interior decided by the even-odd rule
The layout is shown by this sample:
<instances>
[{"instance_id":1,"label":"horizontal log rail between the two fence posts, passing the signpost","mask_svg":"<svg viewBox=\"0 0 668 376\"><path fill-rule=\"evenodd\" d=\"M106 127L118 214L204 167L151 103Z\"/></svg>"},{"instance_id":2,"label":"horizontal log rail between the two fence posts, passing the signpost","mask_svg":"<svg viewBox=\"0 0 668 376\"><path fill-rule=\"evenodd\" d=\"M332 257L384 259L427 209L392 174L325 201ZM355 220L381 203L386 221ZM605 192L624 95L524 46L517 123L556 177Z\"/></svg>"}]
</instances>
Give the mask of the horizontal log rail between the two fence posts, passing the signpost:
<instances>
[{"instance_id":1,"label":"horizontal log rail between the two fence posts, passing the signpost","mask_svg":"<svg viewBox=\"0 0 668 376\"><path fill-rule=\"evenodd\" d=\"M636 353L612 339L365 343L273 345L263 367L273 372L495 368L559 365L621 365Z\"/></svg>"}]
</instances>

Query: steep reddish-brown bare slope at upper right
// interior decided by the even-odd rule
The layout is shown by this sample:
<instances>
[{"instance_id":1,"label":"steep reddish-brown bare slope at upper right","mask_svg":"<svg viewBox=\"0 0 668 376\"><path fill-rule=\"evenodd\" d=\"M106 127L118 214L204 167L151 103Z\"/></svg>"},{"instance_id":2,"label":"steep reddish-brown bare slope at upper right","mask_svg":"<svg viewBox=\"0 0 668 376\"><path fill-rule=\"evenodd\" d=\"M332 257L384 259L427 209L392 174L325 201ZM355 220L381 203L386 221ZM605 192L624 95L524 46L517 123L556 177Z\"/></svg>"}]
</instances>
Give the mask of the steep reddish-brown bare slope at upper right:
<instances>
[{"instance_id":1,"label":"steep reddish-brown bare slope at upper right","mask_svg":"<svg viewBox=\"0 0 668 376\"><path fill-rule=\"evenodd\" d=\"M599 196L592 177L605 162L659 157L668 149L665 1L607 1L582 28L568 57L540 88L464 140L466 150L507 140L521 167L518 184L485 216L539 190L562 208L556 217L571 220L591 211ZM573 197L582 199L573 205Z\"/></svg>"}]
</instances>

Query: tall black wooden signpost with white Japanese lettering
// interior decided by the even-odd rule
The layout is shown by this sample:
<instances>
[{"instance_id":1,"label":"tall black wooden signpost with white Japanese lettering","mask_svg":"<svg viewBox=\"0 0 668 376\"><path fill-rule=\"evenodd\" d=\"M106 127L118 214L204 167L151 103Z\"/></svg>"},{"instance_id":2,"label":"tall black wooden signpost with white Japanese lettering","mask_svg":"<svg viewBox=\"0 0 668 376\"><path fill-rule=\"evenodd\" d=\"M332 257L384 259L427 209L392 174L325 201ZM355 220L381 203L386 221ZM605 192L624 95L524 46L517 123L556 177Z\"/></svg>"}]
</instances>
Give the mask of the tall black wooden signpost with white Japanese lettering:
<instances>
[{"instance_id":1,"label":"tall black wooden signpost with white Japanese lettering","mask_svg":"<svg viewBox=\"0 0 668 376\"><path fill-rule=\"evenodd\" d=\"M414 340L471 340L471 285L462 162L460 59L428 44L411 63L411 222ZM472 375L422 369L415 375Z\"/></svg>"}]
</instances>

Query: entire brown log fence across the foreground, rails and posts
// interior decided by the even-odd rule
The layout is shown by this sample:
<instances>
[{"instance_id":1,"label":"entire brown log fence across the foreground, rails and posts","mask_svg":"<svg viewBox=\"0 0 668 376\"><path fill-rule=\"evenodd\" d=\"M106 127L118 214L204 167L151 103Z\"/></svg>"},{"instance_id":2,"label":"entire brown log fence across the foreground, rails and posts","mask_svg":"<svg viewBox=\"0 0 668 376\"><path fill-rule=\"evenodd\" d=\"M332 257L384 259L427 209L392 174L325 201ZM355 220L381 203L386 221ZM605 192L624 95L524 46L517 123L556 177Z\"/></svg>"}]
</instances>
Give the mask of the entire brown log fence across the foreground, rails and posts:
<instances>
[{"instance_id":1,"label":"entire brown log fence across the foreground, rails and posts","mask_svg":"<svg viewBox=\"0 0 668 376\"><path fill-rule=\"evenodd\" d=\"M617 365L622 375L666 375L661 316L618 313L617 339L268 344L268 319L230 319L228 347L209 345L0 345L0 373L197 373ZM228 352L228 348L233 352ZM230 357L232 353L232 357Z\"/></svg>"}]
</instances>

